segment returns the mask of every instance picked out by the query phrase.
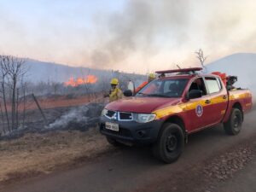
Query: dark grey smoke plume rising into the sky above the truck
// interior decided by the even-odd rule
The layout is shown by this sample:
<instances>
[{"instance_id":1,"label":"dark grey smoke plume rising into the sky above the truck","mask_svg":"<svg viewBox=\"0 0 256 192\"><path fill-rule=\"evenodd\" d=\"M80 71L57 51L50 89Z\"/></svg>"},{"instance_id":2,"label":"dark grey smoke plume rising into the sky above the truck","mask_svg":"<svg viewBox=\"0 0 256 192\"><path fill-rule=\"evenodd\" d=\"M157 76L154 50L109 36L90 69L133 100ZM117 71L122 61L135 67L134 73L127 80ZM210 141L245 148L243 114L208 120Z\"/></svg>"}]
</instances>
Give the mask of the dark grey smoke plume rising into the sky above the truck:
<instances>
[{"instance_id":1,"label":"dark grey smoke plume rising into the sky above the truck","mask_svg":"<svg viewBox=\"0 0 256 192\"><path fill-rule=\"evenodd\" d=\"M91 62L94 66L108 67L134 53L157 54L162 35L176 39L176 45L183 44L187 38L184 32L189 23L188 13L189 3L184 0L128 1L123 11L103 15L107 19L97 23L98 35L103 35L105 42L92 51Z\"/></svg>"}]
</instances>

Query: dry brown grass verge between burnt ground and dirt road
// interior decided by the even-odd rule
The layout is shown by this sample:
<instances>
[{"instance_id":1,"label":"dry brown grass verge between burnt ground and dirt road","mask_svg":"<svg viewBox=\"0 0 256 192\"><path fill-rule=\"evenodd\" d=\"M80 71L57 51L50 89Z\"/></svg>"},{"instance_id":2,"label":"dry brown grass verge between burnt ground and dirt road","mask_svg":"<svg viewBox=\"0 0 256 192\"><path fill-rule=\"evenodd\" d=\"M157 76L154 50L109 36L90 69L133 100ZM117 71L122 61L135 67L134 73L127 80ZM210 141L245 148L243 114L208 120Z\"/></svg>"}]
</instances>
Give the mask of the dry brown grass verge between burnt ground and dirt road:
<instances>
[{"instance_id":1,"label":"dry brown grass verge between burnt ground and dirt road","mask_svg":"<svg viewBox=\"0 0 256 192\"><path fill-rule=\"evenodd\" d=\"M49 173L111 148L96 129L26 134L0 142L0 182Z\"/></svg>"}]
</instances>

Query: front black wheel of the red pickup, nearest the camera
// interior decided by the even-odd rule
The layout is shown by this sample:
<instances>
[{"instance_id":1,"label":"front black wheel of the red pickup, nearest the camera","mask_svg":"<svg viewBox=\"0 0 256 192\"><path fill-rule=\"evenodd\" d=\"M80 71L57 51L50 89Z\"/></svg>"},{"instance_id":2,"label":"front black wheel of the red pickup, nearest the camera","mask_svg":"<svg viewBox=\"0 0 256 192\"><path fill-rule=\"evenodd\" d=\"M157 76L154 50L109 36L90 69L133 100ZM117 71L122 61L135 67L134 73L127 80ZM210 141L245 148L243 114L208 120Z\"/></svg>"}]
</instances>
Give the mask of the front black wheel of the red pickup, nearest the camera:
<instances>
[{"instance_id":1,"label":"front black wheel of the red pickup, nearest the camera","mask_svg":"<svg viewBox=\"0 0 256 192\"><path fill-rule=\"evenodd\" d=\"M183 129L177 124L163 125L158 141L153 146L154 156L165 163L172 163L183 153L183 149Z\"/></svg>"}]
</instances>

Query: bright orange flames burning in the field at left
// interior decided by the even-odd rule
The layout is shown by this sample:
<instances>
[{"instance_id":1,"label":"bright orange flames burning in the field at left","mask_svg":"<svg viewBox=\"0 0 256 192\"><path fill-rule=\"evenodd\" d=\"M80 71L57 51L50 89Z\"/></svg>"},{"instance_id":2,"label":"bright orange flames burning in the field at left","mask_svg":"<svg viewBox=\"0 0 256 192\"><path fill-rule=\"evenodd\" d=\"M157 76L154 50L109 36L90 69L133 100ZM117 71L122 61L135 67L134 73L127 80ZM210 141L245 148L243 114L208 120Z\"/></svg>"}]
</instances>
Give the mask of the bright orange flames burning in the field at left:
<instances>
[{"instance_id":1,"label":"bright orange flames burning in the field at left","mask_svg":"<svg viewBox=\"0 0 256 192\"><path fill-rule=\"evenodd\" d=\"M74 78L70 78L67 82L65 82L64 84L66 86L79 86L81 84L95 84L97 82L97 78L94 75L87 75L86 77L80 77L77 79Z\"/></svg>"}]
</instances>

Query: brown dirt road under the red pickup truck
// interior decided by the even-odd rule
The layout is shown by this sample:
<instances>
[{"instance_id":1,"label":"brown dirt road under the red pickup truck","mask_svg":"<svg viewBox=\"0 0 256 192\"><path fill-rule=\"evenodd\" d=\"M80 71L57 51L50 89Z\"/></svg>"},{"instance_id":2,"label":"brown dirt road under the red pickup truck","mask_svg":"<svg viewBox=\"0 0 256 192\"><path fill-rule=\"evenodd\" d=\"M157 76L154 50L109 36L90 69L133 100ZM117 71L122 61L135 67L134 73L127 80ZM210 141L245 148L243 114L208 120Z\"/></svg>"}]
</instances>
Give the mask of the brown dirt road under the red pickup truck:
<instances>
[{"instance_id":1,"label":"brown dirt road under the red pickup truck","mask_svg":"<svg viewBox=\"0 0 256 192\"><path fill-rule=\"evenodd\" d=\"M183 155L171 165L155 160L148 148L122 148L73 170L11 183L0 191L241 191L236 185L255 191L256 176L250 171L256 160L255 117L256 111L246 115L243 130L236 137L226 136L221 126L190 136ZM225 165L228 168L223 172ZM217 171L209 173L209 167ZM238 183L241 177L250 179Z\"/></svg>"}]
</instances>

